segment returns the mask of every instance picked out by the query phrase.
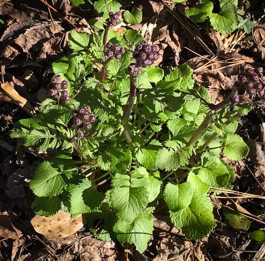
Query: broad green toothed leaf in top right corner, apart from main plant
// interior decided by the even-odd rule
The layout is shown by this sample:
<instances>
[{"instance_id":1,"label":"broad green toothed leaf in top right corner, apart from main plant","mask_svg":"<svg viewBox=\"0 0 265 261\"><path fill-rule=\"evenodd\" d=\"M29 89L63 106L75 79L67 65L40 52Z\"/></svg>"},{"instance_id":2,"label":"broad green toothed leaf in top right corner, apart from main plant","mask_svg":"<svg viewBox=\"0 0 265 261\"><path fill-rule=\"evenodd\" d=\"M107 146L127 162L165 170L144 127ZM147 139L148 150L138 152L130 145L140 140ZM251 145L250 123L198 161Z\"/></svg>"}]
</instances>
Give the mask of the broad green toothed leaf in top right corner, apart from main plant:
<instances>
[{"instance_id":1,"label":"broad green toothed leaf in top right corner, apart from main plant","mask_svg":"<svg viewBox=\"0 0 265 261\"><path fill-rule=\"evenodd\" d=\"M209 15L210 24L221 34L232 33L237 29L237 8L234 4L223 5L221 11Z\"/></svg>"}]
</instances>

